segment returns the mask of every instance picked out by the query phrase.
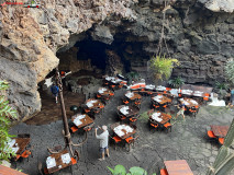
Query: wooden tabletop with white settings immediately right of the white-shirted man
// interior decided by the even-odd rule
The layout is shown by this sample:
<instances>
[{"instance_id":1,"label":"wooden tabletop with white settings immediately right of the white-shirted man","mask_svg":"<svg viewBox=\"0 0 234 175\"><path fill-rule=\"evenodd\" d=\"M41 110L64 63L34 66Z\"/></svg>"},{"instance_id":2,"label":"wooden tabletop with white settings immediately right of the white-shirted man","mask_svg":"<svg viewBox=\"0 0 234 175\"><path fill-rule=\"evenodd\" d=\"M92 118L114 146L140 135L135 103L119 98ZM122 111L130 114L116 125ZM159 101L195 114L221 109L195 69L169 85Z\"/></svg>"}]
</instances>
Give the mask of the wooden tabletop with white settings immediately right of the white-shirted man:
<instances>
[{"instance_id":1,"label":"wooden tabletop with white settings immediately right of the white-shirted man","mask_svg":"<svg viewBox=\"0 0 234 175\"><path fill-rule=\"evenodd\" d=\"M113 132L119 136L121 139L126 139L133 136L136 132L136 129L130 125L122 124L113 128Z\"/></svg>"}]
</instances>

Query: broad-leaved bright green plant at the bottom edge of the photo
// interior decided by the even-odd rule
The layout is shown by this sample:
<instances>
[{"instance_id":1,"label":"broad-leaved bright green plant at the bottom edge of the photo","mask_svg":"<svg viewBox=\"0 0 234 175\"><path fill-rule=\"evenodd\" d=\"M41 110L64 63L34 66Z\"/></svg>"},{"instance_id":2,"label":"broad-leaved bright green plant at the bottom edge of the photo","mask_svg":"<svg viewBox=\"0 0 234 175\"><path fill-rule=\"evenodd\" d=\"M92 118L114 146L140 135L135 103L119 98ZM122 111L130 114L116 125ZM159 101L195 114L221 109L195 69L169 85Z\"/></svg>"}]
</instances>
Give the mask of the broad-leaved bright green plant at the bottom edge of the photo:
<instances>
[{"instance_id":1,"label":"broad-leaved bright green plant at the bottom edge of the photo","mask_svg":"<svg viewBox=\"0 0 234 175\"><path fill-rule=\"evenodd\" d=\"M112 175L147 175L147 172L138 166L131 167L130 173L126 173L126 168L123 165L116 165L114 168L108 166L108 168ZM156 173L153 175L156 175Z\"/></svg>"}]
</instances>

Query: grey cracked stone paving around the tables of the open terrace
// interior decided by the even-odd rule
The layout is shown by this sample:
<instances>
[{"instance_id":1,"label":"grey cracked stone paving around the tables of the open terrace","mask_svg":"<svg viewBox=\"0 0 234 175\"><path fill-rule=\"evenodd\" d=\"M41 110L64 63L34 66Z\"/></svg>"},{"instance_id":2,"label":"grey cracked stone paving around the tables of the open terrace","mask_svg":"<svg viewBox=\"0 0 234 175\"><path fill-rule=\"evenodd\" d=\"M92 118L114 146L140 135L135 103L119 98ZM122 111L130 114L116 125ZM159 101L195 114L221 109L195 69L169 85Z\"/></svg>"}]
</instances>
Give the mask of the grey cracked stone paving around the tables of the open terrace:
<instances>
[{"instance_id":1,"label":"grey cracked stone paving around the tables of the open terrace","mask_svg":"<svg viewBox=\"0 0 234 175\"><path fill-rule=\"evenodd\" d=\"M105 106L104 113L96 118L96 126L114 124L116 121L116 106L121 104L121 97L125 90L115 92L115 97ZM144 97L141 113L145 114L149 109L151 98ZM141 166L148 171L149 175L154 172L159 174L159 168L164 167L164 161L185 159L189 163L194 175L204 175L207 167L211 165L218 154L219 143L210 142L207 137L207 129L210 125L230 125L234 113L226 108L203 106L199 110L197 118L187 116L186 121L179 117L172 121L172 132L149 131L146 115L142 115L137 122L137 140L135 148L127 152L125 148L118 148L115 151L110 147L111 156L105 161L98 161L99 141L94 139L93 131L89 132L88 141L80 151L78 168L73 166L75 175L108 175L110 172L107 166L114 167L122 164L126 168ZM63 122L57 120L48 125L26 125L20 124L12 128L12 133L30 132L32 144L34 145L33 155L30 162L23 160L16 163L19 170L30 175L37 175L37 163L45 165L48 155L47 148L64 144L62 136ZM73 135L74 142L82 138ZM56 175L70 175L71 168L65 168ZM232 173L234 174L234 172Z\"/></svg>"}]
</instances>

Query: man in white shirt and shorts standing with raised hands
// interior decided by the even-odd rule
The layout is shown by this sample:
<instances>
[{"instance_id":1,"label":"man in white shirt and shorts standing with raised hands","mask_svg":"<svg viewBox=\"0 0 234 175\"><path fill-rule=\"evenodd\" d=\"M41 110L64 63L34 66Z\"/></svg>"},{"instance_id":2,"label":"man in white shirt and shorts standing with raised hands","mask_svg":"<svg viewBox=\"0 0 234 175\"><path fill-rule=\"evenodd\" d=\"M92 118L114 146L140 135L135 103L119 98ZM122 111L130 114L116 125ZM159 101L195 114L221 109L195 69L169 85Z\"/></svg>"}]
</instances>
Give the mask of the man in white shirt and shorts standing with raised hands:
<instances>
[{"instance_id":1,"label":"man in white shirt and shorts standing with raised hands","mask_svg":"<svg viewBox=\"0 0 234 175\"><path fill-rule=\"evenodd\" d=\"M109 154L109 148L108 148L108 139L109 139L109 131L107 126L102 126L100 129L103 130L101 135L97 135L98 128L96 128L96 138L100 140L100 151L101 151L101 158L100 161L104 160L104 150L107 151L107 155Z\"/></svg>"}]
</instances>

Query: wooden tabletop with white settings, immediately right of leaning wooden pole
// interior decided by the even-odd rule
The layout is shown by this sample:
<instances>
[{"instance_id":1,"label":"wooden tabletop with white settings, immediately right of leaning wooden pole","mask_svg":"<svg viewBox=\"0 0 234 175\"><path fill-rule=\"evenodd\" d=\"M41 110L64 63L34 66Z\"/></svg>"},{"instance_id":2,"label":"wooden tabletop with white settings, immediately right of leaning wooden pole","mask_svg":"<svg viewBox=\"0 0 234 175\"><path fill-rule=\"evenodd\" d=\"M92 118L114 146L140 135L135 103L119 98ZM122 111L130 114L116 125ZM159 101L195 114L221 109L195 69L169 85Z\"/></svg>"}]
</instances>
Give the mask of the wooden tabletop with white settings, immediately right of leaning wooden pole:
<instances>
[{"instance_id":1,"label":"wooden tabletop with white settings, immediately right of leaning wooden pole","mask_svg":"<svg viewBox=\"0 0 234 175\"><path fill-rule=\"evenodd\" d=\"M71 121L77 128L82 128L94 122L94 120L87 114L76 114L71 117Z\"/></svg>"}]
</instances>

